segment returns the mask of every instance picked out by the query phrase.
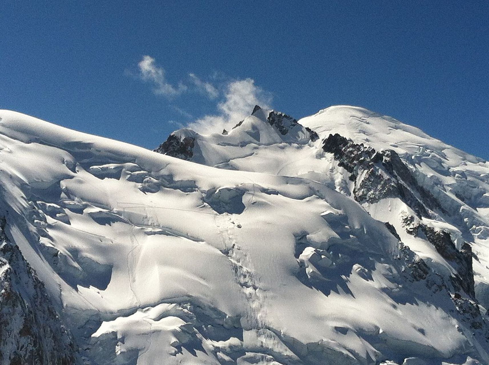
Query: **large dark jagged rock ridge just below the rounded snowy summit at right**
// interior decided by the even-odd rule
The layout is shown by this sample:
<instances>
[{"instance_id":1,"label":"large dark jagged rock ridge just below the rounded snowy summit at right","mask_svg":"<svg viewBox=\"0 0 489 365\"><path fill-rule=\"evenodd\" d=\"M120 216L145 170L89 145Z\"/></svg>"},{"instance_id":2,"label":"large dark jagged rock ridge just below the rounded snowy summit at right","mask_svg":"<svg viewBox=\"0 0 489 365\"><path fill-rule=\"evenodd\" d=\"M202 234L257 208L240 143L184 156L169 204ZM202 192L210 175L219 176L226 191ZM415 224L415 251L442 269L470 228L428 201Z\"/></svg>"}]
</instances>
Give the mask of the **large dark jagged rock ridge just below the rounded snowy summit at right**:
<instances>
[{"instance_id":1,"label":"large dark jagged rock ridge just below the rounded snowy summit at right","mask_svg":"<svg viewBox=\"0 0 489 365\"><path fill-rule=\"evenodd\" d=\"M324 140L323 150L333 153L338 165L350 173L349 179L355 181L356 201L375 203L387 197L400 197L419 216L429 216L428 209L441 209L395 151L378 152L337 133Z\"/></svg>"}]
</instances>

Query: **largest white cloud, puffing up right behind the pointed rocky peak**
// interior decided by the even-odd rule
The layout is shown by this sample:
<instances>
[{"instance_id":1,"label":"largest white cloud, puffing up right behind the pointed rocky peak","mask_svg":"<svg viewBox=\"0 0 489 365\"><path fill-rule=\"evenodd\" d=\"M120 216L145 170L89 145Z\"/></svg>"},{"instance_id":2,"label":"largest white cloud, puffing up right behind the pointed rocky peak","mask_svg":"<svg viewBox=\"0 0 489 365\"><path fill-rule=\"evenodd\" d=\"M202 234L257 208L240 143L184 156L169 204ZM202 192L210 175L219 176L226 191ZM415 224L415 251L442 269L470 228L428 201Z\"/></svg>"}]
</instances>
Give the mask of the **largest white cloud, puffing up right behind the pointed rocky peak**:
<instances>
[{"instance_id":1,"label":"largest white cloud, puffing up right behind the pointed rocky peak","mask_svg":"<svg viewBox=\"0 0 489 365\"><path fill-rule=\"evenodd\" d=\"M250 115L255 105L265 109L270 108L271 100L271 94L256 86L253 79L232 81L225 86L224 100L217 105L219 113L206 115L190 123L188 127L199 133L230 130Z\"/></svg>"}]
</instances>

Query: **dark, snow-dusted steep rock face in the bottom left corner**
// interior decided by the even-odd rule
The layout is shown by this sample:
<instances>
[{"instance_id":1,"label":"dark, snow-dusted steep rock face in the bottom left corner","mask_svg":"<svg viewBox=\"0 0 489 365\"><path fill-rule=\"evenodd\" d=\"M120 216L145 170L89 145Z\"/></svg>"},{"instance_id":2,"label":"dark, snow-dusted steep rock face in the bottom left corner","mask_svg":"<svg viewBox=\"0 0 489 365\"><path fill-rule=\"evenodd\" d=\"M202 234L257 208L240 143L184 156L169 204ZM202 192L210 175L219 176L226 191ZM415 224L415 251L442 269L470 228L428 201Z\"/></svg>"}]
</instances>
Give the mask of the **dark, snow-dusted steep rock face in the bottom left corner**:
<instances>
[{"instance_id":1,"label":"dark, snow-dusted steep rock face in the bottom left corner","mask_svg":"<svg viewBox=\"0 0 489 365\"><path fill-rule=\"evenodd\" d=\"M44 284L0 231L0 364L77 364L77 351Z\"/></svg>"}]
</instances>

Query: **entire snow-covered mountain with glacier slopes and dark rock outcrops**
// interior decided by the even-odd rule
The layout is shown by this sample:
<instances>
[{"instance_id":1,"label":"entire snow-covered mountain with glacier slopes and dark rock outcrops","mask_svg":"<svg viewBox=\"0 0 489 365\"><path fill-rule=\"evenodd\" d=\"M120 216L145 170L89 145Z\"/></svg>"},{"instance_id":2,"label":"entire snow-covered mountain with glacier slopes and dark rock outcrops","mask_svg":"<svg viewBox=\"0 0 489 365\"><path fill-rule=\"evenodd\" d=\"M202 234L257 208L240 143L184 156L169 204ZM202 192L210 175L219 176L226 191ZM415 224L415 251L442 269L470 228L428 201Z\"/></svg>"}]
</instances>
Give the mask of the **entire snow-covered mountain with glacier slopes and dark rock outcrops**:
<instances>
[{"instance_id":1,"label":"entire snow-covered mountain with glacier slopes and dark rock outcrops","mask_svg":"<svg viewBox=\"0 0 489 365\"><path fill-rule=\"evenodd\" d=\"M359 107L0 118L0 364L489 364L488 162Z\"/></svg>"}]
</instances>

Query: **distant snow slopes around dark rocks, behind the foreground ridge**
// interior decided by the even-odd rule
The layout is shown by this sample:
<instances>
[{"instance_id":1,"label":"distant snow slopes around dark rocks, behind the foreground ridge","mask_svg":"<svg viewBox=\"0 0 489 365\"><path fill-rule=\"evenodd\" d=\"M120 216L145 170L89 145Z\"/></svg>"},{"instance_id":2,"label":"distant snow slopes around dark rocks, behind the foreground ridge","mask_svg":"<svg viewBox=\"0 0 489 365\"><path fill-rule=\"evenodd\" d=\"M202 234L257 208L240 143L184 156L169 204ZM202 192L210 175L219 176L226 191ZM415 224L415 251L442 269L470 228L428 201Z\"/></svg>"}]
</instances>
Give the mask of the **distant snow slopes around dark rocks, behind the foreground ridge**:
<instances>
[{"instance_id":1,"label":"distant snow slopes around dark rocks, behind the foreground ridge","mask_svg":"<svg viewBox=\"0 0 489 365\"><path fill-rule=\"evenodd\" d=\"M394 150L407 166L413 178L436 200L438 209L424 216L428 225L450 233L460 249L464 241L471 243L477 255L473 262L475 290L478 300L489 307L489 163L464 151L434 139L422 130L400 121L374 113L361 107L334 106L320 110L298 121L299 125L317 133L315 141L288 138L280 139L266 121L268 110L259 110L261 120L250 116L243 125L257 125L255 129L267 129L268 134L279 139L272 145L258 140L246 144L243 134L249 127L238 126L228 135L201 136L194 132L197 151L190 160L223 169L266 172L274 175L296 176L320 182L333 190L352 196L355 184L349 173L338 166L332 153L322 149L324 140L338 133L356 144L363 144L377 151ZM181 136L188 130L178 130ZM263 133L262 133L263 136ZM181 138L181 137L180 137ZM263 137L262 137L263 138ZM270 138L270 137L269 137ZM238 141L238 142L237 142ZM202 147L203 146L203 147ZM206 150L204 155L199 150ZM370 188L370 187L369 187ZM353 196L352 196L353 197ZM363 203L375 218L389 221L402 232L401 217L414 214L412 209L390 196L375 204ZM392 207L397 212L392 212ZM429 210L429 209L428 209ZM436 250L429 242L403 236L405 243L422 258L433 259ZM436 258L435 258L436 259ZM443 259L438 260L443 261Z\"/></svg>"}]
</instances>

